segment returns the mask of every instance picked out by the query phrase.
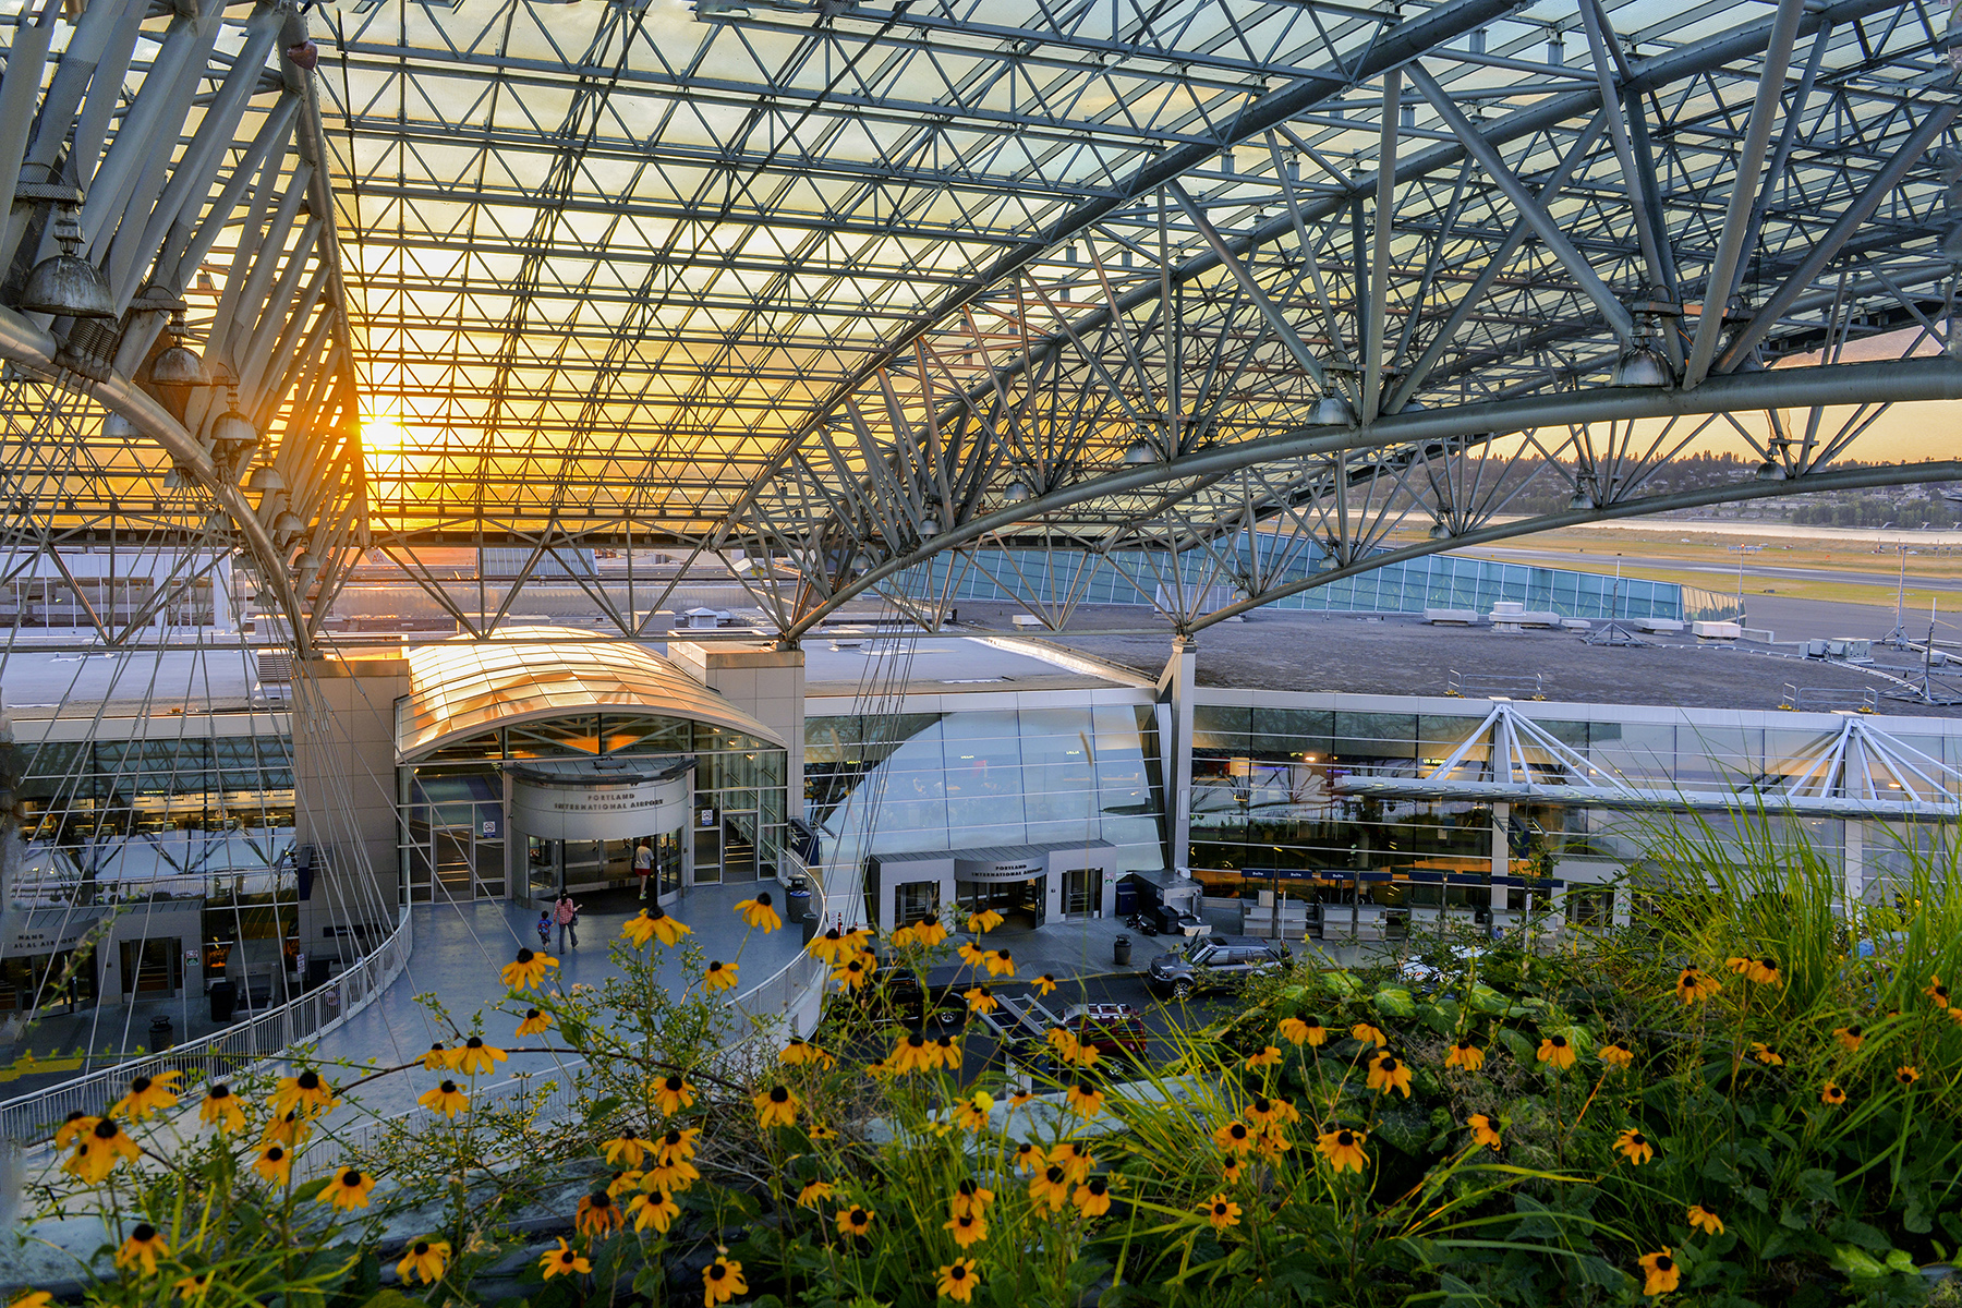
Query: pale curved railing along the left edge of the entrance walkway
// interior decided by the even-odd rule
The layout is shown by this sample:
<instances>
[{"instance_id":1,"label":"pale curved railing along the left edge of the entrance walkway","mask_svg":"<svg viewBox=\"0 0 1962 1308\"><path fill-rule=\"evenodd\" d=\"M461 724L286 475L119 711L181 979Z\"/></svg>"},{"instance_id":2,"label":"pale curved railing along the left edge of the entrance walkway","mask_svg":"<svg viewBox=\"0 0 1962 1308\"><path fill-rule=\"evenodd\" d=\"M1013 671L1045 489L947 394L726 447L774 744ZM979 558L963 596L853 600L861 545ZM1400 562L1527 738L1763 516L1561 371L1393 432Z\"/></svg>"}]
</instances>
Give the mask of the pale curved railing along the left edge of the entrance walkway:
<instances>
[{"instance_id":1,"label":"pale curved railing along the left edge of the entrance walkway","mask_svg":"<svg viewBox=\"0 0 1962 1308\"><path fill-rule=\"evenodd\" d=\"M341 1022L375 1002L408 963L408 912L375 953L296 1000L271 1008L249 1022L228 1026L200 1039L184 1041L163 1053L129 1059L114 1067L77 1077L59 1086L33 1090L0 1102L0 1139L20 1141L33 1149L47 1141L71 1112L98 1114L116 1102L135 1077L181 1071L184 1081L239 1073L255 1063L275 1059L288 1047L314 1035L326 1035Z\"/></svg>"}]
</instances>

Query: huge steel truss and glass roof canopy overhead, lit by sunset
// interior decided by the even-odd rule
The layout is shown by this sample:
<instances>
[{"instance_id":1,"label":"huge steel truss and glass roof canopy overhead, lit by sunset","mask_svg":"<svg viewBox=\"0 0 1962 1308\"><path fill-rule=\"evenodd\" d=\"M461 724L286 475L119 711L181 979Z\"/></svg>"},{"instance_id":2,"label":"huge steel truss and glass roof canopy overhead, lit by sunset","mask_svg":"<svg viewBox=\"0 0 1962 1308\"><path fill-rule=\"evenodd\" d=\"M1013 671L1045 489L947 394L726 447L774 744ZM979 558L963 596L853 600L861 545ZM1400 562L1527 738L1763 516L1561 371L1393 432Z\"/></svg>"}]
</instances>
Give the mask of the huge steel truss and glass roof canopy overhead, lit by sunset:
<instances>
[{"instance_id":1,"label":"huge steel truss and glass roof canopy overhead, lit by sunset","mask_svg":"<svg viewBox=\"0 0 1962 1308\"><path fill-rule=\"evenodd\" d=\"M445 604L438 545L742 559L793 639L1032 549L1144 559L1189 631L1413 522L1962 478L1850 463L1962 398L1946 24L41 0L0 25L10 549L222 535L300 639L361 549ZM24 298L71 229L110 316ZM235 410L155 375L179 335ZM1719 435L1758 480L1670 490ZM1503 518L1521 465L1572 510ZM642 633L685 575L598 606Z\"/></svg>"}]
</instances>

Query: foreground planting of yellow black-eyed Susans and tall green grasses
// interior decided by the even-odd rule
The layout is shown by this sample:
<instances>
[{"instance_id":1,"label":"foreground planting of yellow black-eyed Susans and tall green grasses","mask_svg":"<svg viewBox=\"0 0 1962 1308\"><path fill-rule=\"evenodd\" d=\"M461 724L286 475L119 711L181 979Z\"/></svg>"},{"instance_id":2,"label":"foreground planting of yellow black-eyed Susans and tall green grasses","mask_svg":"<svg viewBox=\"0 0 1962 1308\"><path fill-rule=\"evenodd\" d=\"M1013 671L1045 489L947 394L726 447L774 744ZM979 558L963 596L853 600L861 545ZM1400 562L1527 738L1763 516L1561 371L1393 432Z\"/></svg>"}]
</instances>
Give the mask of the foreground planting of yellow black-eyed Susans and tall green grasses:
<instances>
[{"instance_id":1,"label":"foreground planting of yellow black-eyed Susans and tall green grasses","mask_svg":"<svg viewBox=\"0 0 1962 1308\"><path fill-rule=\"evenodd\" d=\"M98 1214L61 1294L159 1308L1927 1302L1962 1245L1954 855L1848 906L1774 828L1652 833L1632 928L1438 949L1422 990L1303 963L1138 1061L1005 1059L975 992L1038 979L987 914L820 935L802 1033L638 918L604 986L534 953L400 1067L129 1086L51 1132L24 1230ZM516 1053L557 1071L492 1082ZM420 1108L363 1120L387 1077Z\"/></svg>"}]
</instances>

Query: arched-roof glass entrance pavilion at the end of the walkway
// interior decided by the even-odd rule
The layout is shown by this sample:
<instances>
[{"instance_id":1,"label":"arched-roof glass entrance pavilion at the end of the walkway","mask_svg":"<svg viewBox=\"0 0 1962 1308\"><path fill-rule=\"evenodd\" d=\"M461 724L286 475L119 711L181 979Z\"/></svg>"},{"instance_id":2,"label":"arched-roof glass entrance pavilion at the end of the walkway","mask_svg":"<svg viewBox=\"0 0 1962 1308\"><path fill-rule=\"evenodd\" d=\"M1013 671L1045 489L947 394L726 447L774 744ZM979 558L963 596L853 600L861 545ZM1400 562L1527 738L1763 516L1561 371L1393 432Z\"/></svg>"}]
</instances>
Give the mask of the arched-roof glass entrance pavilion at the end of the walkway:
<instances>
[{"instance_id":1,"label":"arched-roof glass entrance pavilion at the end of the walkway","mask_svg":"<svg viewBox=\"0 0 1962 1308\"><path fill-rule=\"evenodd\" d=\"M667 659L581 631L410 651L396 702L410 898L775 877L783 741ZM642 851L645 847L645 851Z\"/></svg>"}]
</instances>

